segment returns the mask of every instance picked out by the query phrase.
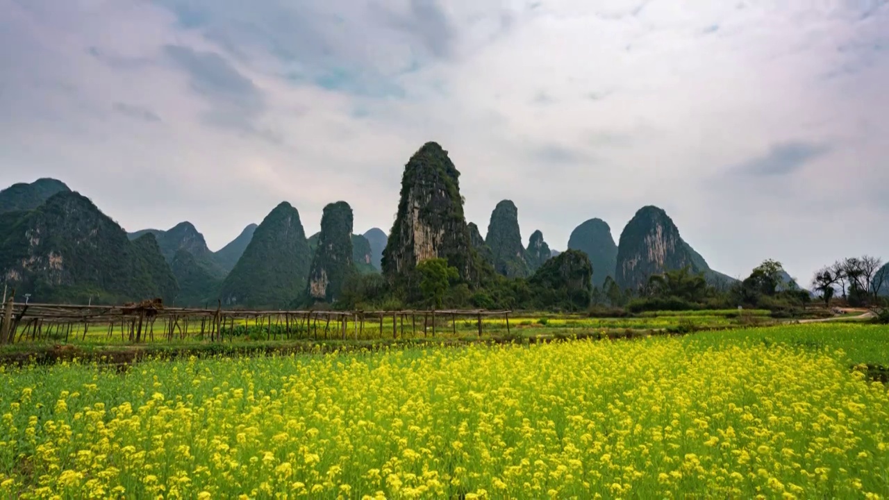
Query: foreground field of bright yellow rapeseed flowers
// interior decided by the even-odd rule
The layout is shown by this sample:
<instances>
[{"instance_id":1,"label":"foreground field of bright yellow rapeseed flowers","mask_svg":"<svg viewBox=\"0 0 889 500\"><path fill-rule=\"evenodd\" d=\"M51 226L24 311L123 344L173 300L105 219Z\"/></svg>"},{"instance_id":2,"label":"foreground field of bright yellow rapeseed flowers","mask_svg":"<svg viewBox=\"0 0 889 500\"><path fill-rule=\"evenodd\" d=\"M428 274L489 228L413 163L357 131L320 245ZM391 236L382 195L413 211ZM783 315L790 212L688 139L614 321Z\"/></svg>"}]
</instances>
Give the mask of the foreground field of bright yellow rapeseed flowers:
<instances>
[{"instance_id":1,"label":"foreground field of bright yellow rapeseed flowers","mask_svg":"<svg viewBox=\"0 0 889 500\"><path fill-rule=\"evenodd\" d=\"M773 331L0 368L0 497L889 496L885 385Z\"/></svg>"}]
</instances>

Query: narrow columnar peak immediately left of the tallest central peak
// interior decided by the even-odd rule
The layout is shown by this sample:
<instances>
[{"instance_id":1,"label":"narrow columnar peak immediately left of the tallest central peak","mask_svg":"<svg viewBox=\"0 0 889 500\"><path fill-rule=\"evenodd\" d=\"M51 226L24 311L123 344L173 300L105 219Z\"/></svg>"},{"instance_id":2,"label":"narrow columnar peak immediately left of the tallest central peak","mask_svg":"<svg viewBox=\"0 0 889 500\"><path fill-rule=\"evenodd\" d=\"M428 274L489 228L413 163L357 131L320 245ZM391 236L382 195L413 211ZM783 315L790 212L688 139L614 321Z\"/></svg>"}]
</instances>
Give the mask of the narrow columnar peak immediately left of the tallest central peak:
<instances>
[{"instance_id":1,"label":"narrow columnar peak immediately left of the tallest central peak","mask_svg":"<svg viewBox=\"0 0 889 500\"><path fill-rule=\"evenodd\" d=\"M324 206L321 232L308 272L308 296L316 301L333 302L351 273L352 207L345 201Z\"/></svg>"}]
</instances>

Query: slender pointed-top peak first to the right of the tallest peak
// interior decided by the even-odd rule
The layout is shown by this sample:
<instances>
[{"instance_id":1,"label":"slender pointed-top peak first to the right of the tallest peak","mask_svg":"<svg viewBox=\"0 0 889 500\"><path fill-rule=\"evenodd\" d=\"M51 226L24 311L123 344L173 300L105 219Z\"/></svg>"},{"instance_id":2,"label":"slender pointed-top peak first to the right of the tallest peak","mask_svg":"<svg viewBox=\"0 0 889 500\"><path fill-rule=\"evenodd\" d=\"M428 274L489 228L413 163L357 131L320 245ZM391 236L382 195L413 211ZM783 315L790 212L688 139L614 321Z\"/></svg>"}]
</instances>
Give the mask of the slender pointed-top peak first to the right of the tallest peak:
<instances>
[{"instance_id":1,"label":"slender pointed-top peak first to the right of the tallest peak","mask_svg":"<svg viewBox=\"0 0 889 500\"><path fill-rule=\"evenodd\" d=\"M485 243L493 254L494 270L509 278L525 278L530 274L525 262L525 246L518 228L518 208L504 199L494 206Z\"/></svg>"}]
</instances>

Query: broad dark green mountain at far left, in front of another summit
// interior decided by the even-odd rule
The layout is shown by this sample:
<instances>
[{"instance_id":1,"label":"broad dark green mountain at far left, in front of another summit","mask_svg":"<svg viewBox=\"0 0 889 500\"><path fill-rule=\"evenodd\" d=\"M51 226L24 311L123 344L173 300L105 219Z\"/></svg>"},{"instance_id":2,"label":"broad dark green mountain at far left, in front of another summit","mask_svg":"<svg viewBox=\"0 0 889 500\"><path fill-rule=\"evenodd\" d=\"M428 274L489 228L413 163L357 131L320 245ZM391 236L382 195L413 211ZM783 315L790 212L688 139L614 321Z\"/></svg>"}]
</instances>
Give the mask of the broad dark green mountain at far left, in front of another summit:
<instances>
[{"instance_id":1,"label":"broad dark green mountain at far left, in front of another summit","mask_svg":"<svg viewBox=\"0 0 889 500\"><path fill-rule=\"evenodd\" d=\"M33 302L113 303L174 291L153 237L131 242L88 198L60 191L0 219L0 273Z\"/></svg>"}]
</instances>

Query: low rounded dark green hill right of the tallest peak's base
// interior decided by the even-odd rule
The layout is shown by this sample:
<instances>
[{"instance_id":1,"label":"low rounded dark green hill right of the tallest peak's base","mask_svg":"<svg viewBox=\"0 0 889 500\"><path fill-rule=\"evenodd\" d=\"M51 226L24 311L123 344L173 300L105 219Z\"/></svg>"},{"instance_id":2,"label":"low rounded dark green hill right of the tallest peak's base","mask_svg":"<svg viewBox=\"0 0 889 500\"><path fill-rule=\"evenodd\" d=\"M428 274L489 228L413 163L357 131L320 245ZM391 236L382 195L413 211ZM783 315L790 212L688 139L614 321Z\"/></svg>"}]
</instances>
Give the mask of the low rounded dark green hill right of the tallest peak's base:
<instances>
[{"instance_id":1,"label":"low rounded dark green hill right of the tallest peak's base","mask_svg":"<svg viewBox=\"0 0 889 500\"><path fill-rule=\"evenodd\" d=\"M593 267L580 250L567 250L546 262L529 279L539 307L585 310L592 294Z\"/></svg>"}]
</instances>

